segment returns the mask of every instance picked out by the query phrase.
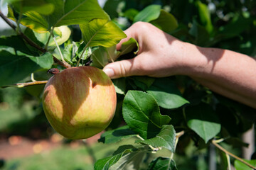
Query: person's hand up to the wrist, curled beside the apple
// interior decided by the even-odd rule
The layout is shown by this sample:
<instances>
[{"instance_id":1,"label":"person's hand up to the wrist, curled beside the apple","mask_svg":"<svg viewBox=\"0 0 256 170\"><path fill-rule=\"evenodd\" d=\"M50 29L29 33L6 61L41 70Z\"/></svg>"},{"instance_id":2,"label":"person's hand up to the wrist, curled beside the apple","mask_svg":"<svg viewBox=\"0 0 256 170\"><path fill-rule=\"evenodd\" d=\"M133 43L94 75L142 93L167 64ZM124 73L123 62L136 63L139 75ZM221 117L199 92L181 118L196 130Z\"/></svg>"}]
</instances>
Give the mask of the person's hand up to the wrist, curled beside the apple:
<instances>
[{"instance_id":1,"label":"person's hand up to the wrist, curled beside the apple","mask_svg":"<svg viewBox=\"0 0 256 170\"><path fill-rule=\"evenodd\" d=\"M127 38L117 44L117 50L123 42L134 38L139 42L137 56L107 64L103 69L111 78L129 76L168 77L181 74L183 48L185 42L164 33L150 23L137 22L124 31Z\"/></svg>"}]
</instances>

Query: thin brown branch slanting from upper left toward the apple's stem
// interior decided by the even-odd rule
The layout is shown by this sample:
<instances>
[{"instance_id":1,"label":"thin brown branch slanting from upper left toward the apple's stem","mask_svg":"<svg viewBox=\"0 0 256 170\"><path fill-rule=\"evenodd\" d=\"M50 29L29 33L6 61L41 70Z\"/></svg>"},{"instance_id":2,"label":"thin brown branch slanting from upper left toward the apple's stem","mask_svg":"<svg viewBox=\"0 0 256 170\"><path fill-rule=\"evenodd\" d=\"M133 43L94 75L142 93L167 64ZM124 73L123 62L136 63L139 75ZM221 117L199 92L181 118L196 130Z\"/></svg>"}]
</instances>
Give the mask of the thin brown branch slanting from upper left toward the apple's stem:
<instances>
[{"instance_id":1,"label":"thin brown branch slanting from upper left toward the apple's stem","mask_svg":"<svg viewBox=\"0 0 256 170\"><path fill-rule=\"evenodd\" d=\"M21 36L21 38L23 38L24 40L26 40L26 42L28 42L28 45L31 45L32 47L35 47L36 49L40 50L41 52L47 52L46 49L44 49L43 47L37 45L35 42L33 42L33 40L31 40L30 38L28 38L25 34L23 34L20 30L16 30L16 26L14 26L13 23L11 23L11 21L9 21L9 19L4 16L4 13L2 13L0 11L0 17L3 18L3 20L11 27L13 28L18 35ZM70 64L68 63L63 63L60 60L58 60L55 56L53 56L53 60L54 62L57 62L58 64L60 64L61 66L65 67L65 68L69 68L71 67Z\"/></svg>"}]
</instances>

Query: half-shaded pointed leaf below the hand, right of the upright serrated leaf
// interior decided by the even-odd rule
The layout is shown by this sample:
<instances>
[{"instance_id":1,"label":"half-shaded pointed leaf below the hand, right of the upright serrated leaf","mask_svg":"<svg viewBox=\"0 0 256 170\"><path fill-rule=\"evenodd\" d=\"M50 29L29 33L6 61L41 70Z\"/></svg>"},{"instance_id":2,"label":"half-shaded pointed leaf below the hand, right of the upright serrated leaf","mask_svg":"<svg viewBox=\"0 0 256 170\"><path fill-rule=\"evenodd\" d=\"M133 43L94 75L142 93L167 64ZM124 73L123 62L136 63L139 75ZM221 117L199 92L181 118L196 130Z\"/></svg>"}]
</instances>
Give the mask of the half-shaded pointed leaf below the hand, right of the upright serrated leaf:
<instances>
[{"instance_id":1,"label":"half-shaded pointed leaf below the hand, right of the upright serrated leaf","mask_svg":"<svg viewBox=\"0 0 256 170\"><path fill-rule=\"evenodd\" d=\"M146 92L154 96L162 108L178 108L189 103L170 78L156 79Z\"/></svg>"}]
</instances>

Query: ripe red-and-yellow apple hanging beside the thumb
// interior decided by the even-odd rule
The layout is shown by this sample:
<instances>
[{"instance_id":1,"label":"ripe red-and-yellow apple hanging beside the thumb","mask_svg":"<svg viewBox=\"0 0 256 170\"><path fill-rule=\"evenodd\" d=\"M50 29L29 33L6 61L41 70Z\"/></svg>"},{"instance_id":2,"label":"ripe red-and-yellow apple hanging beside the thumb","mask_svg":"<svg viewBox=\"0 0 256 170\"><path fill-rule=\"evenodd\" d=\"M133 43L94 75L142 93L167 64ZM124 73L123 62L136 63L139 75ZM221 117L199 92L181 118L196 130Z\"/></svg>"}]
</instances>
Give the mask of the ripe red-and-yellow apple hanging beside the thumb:
<instances>
[{"instance_id":1,"label":"ripe red-and-yellow apple hanging beside the thumb","mask_svg":"<svg viewBox=\"0 0 256 170\"><path fill-rule=\"evenodd\" d=\"M72 140L105 130L116 106L110 77L96 67L64 69L48 80L43 91L43 111L50 125Z\"/></svg>"}]
</instances>

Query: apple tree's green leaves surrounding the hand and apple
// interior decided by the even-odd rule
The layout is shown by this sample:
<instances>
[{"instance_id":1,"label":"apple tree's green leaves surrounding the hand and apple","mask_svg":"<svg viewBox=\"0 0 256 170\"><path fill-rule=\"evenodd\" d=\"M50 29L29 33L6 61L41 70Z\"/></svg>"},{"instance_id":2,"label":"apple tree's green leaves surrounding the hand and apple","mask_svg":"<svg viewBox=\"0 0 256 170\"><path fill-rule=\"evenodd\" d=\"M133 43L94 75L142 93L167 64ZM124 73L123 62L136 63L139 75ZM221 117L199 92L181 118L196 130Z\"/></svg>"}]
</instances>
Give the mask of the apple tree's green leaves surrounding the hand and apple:
<instances>
[{"instance_id":1,"label":"apple tree's green leaves surrounding the hand and apple","mask_svg":"<svg viewBox=\"0 0 256 170\"><path fill-rule=\"evenodd\" d=\"M7 2L8 17L16 22L16 26L9 25L17 35L0 38L3 87L25 86L21 82L29 81L31 74L34 84L34 79L46 80L46 70L52 67L65 69L92 60L92 66L103 68L108 62L134 57L139 50L136 40L124 42L119 51L115 45L126 37L122 30L137 21L154 24L196 45L256 55L255 1L108 0L104 11L96 0ZM73 41L78 39L73 25L79 25L82 33L77 42ZM215 94L188 77L126 77L113 83L117 111L100 142L129 137L138 137L138 141L99 159L95 169L178 169L174 152L186 154L182 148L190 141L197 149L208 148L215 138L242 147L239 137L255 121L252 108ZM43 88L38 87L26 90L40 98ZM181 132L185 132L182 137ZM168 149L170 156L156 157L161 148ZM149 167L139 167L142 162ZM235 161L235 166L244 169L245 165Z\"/></svg>"}]
</instances>

